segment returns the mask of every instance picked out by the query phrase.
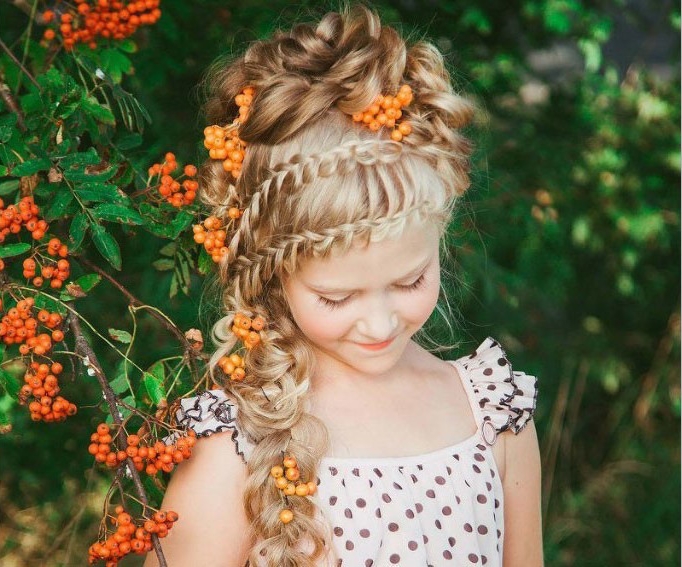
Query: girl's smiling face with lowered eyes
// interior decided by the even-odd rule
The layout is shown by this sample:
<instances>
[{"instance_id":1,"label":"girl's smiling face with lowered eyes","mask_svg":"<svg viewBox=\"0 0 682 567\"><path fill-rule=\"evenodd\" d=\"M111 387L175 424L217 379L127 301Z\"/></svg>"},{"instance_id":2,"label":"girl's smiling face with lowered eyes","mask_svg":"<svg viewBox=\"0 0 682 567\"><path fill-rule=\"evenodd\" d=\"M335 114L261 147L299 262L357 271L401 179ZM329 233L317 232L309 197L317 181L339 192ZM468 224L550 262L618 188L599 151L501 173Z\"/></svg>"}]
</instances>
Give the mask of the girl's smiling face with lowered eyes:
<instances>
[{"instance_id":1,"label":"girl's smiling face with lowered eyes","mask_svg":"<svg viewBox=\"0 0 682 567\"><path fill-rule=\"evenodd\" d=\"M380 375L393 368L436 306L438 244L435 223L411 222L399 237L308 259L285 280L318 373Z\"/></svg>"}]
</instances>

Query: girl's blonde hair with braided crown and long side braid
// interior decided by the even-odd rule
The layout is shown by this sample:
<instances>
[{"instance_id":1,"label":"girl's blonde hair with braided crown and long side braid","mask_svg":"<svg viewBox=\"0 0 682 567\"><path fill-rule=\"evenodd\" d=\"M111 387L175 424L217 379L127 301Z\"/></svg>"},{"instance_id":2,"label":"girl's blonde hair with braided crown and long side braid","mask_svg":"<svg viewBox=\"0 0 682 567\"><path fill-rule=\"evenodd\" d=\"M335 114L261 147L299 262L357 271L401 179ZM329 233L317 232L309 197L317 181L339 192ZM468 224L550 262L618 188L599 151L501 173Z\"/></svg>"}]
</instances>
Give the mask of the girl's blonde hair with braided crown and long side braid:
<instances>
[{"instance_id":1,"label":"girl's blonde hair with braided crown and long side braid","mask_svg":"<svg viewBox=\"0 0 682 567\"><path fill-rule=\"evenodd\" d=\"M352 113L404 83L414 100L404 109L412 133L403 142L352 121ZM227 314L214 326L211 369L235 344L235 312L265 317L264 341L246 355L248 378L225 385L238 404L239 426L255 443L244 490L254 541L249 561L306 567L331 551L327 526L306 497L291 497L294 519L280 522L281 495L268 475L286 453L295 455L302 478L316 479L327 431L306 412L315 360L282 279L306 257L343 251L358 238L385 238L415 216L445 227L469 185L471 148L459 130L473 108L453 92L433 45L406 46L364 7L278 32L214 67L211 123L237 115L234 97L245 86L255 96L239 130L248 144L242 173L233 185L219 162L202 172L201 196L214 214L244 209L220 266Z\"/></svg>"}]
</instances>

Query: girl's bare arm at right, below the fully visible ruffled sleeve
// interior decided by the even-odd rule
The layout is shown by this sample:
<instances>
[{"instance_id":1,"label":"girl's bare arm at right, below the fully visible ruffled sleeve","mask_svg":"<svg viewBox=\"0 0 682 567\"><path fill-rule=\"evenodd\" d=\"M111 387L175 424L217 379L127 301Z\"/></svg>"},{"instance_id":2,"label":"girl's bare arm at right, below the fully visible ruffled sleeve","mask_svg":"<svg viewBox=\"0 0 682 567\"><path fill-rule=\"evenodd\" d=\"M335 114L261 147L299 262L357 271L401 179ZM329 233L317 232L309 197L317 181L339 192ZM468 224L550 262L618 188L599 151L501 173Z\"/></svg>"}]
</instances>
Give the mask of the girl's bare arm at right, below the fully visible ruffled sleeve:
<instances>
[{"instance_id":1,"label":"girl's bare arm at right, below the fully visible ruffled sleeve","mask_svg":"<svg viewBox=\"0 0 682 567\"><path fill-rule=\"evenodd\" d=\"M540 450L531 420L504 434L504 567L542 567Z\"/></svg>"}]
</instances>

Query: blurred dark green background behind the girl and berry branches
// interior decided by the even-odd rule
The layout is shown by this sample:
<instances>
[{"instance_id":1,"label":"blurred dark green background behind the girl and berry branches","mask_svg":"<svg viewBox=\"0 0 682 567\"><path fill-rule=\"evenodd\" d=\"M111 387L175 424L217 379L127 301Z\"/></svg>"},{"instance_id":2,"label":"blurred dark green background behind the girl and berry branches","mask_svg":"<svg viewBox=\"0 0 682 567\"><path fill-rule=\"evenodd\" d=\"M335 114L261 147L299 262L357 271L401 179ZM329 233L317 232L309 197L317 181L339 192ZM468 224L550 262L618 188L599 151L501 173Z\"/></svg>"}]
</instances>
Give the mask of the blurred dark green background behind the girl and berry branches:
<instances>
[{"instance_id":1,"label":"blurred dark green background behind the girl and berry branches","mask_svg":"<svg viewBox=\"0 0 682 567\"><path fill-rule=\"evenodd\" d=\"M459 339L468 352L493 335L516 368L540 379L547 565L679 565L679 6L374 6L434 41L480 108L469 132L473 186L454 225ZM158 24L135 37L135 74L124 81L153 118L140 160L173 150L200 161L208 65L329 7L163 0ZM0 21L10 43L27 17L0 0ZM150 267L162 244L129 238L122 281L181 327L208 329L210 315L197 316L204 282L169 300L168 277ZM125 327L126 304L98 289L85 314ZM149 342L139 360L172 351L151 320L142 325ZM110 480L85 451L101 419L98 394L82 377L64 389L81 406L71 421L34 424L19 410L0 435L3 566L84 565L96 537Z\"/></svg>"}]
</instances>

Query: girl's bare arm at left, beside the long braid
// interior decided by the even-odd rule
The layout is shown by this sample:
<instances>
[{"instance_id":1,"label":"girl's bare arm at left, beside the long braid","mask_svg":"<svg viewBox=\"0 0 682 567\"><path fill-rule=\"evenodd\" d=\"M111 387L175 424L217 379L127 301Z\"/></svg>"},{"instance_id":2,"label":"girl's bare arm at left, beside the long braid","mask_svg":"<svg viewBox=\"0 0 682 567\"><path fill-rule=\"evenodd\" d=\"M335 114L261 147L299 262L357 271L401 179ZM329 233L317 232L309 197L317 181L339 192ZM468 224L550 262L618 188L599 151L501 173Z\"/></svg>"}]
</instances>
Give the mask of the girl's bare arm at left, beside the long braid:
<instances>
[{"instance_id":1,"label":"girl's bare arm at left, beside the long braid","mask_svg":"<svg viewBox=\"0 0 682 567\"><path fill-rule=\"evenodd\" d=\"M246 466L237 455L230 432L197 441L192 458L174 473L162 509L179 519L161 540L169 567L210 565L243 567L250 541L242 506ZM157 567L147 554L144 567Z\"/></svg>"}]
</instances>

